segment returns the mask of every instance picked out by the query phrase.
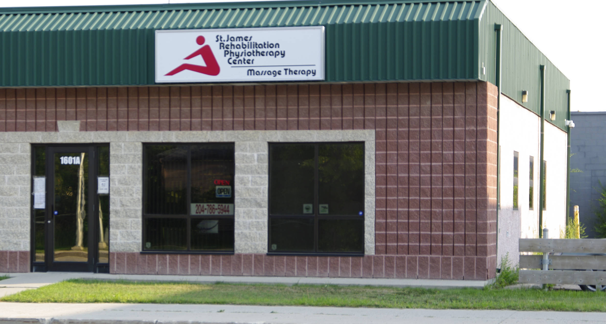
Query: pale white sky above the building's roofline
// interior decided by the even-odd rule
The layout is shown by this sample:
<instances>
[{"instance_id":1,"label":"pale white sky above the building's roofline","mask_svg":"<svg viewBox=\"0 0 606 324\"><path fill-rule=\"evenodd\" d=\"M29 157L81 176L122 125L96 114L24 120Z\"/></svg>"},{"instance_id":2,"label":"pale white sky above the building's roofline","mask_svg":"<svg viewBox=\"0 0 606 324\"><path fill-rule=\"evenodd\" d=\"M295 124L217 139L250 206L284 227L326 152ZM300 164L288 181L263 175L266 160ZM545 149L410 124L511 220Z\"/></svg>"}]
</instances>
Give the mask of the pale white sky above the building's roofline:
<instances>
[{"instance_id":1,"label":"pale white sky above the building's roofline","mask_svg":"<svg viewBox=\"0 0 606 324\"><path fill-rule=\"evenodd\" d=\"M0 7L165 4L167 0L0 0ZM170 3L195 2L170 0ZM204 2L228 2L207 0ZM513 23L570 79L572 111L606 111L600 81L606 76L602 19L605 0L493 0Z\"/></svg>"}]
</instances>

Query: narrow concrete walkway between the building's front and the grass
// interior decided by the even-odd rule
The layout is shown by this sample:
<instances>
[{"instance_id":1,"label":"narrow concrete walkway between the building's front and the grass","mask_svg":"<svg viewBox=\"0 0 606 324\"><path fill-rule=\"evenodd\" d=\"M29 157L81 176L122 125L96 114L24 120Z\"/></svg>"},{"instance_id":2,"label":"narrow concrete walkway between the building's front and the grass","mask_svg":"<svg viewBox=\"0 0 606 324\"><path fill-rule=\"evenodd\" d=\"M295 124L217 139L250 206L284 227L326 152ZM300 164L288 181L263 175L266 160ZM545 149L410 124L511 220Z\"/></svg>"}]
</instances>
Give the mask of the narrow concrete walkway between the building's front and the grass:
<instances>
[{"instance_id":1,"label":"narrow concrete walkway between the building's front and the grass","mask_svg":"<svg viewBox=\"0 0 606 324\"><path fill-rule=\"evenodd\" d=\"M3 274L0 273L0 276ZM491 280L440 280L440 279L382 279L382 278L329 278L329 277L251 277L251 276L173 276L153 274L108 273L7 273L9 279L0 280L0 297L25 289L39 288L68 279L103 279L137 281L172 281L198 283L282 283L284 285L357 285L421 288L477 288L482 289Z\"/></svg>"}]
</instances>

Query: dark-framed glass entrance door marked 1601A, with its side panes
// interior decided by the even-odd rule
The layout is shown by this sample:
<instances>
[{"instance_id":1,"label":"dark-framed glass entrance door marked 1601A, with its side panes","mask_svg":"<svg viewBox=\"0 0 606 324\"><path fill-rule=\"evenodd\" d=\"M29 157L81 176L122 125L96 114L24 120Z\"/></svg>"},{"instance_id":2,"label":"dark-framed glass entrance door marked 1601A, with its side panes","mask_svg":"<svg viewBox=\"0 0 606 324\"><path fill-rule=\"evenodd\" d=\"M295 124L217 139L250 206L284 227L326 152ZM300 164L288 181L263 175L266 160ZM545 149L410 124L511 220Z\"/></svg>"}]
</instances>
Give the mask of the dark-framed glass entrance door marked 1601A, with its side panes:
<instances>
[{"instance_id":1,"label":"dark-framed glass entrance door marked 1601A, with its side panes","mask_svg":"<svg viewBox=\"0 0 606 324\"><path fill-rule=\"evenodd\" d=\"M36 233L33 242L35 271L42 259L41 269L47 271L103 271L109 243L109 147L48 146L35 150L44 151L46 176L44 216L42 206L34 205L36 232L42 230L39 220L45 220L44 234ZM41 155L35 154L35 164ZM41 236L43 243L38 240Z\"/></svg>"}]
</instances>

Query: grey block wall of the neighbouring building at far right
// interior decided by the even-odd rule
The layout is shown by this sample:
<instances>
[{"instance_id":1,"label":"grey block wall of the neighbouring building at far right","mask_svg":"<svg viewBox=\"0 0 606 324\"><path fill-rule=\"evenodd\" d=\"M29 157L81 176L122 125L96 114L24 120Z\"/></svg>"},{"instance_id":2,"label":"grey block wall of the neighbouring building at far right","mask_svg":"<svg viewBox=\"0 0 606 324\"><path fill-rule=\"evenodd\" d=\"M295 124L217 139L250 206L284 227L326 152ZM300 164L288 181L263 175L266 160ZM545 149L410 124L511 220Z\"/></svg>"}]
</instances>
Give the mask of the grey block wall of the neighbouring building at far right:
<instances>
[{"instance_id":1,"label":"grey block wall of the neighbouring building at far right","mask_svg":"<svg viewBox=\"0 0 606 324\"><path fill-rule=\"evenodd\" d=\"M575 127L570 131L570 215L578 205L581 222L589 237L593 230L594 210L598 207L599 182L606 184L606 111L572 111Z\"/></svg>"}]
</instances>

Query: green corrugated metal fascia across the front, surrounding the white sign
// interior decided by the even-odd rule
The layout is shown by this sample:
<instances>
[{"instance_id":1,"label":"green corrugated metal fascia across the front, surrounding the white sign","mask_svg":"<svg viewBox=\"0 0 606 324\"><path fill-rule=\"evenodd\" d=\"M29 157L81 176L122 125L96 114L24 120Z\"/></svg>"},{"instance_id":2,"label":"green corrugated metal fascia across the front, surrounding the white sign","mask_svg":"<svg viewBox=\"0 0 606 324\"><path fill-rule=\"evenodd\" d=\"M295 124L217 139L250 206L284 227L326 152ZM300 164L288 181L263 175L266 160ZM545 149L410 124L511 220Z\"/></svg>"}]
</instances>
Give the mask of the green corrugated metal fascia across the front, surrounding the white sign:
<instances>
[{"instance_id":1,"label":"green corrugated metal fascia across the front, surrounding the white sign","mask_svg":"<svg viewBox=\"0 0 606 324\"><path fill-rule=\"evenodd\" d=\"M281 3L291 6L275 7ZM292 6L307 3L315 5ZM326 27L328 82L475 80L478 22L486 4L290 1L258 2L251 8L238 2L219 8L5 10L0 15L0 86L154 84L156 29L307 25Z\"/></svg>"}]
</instances>

